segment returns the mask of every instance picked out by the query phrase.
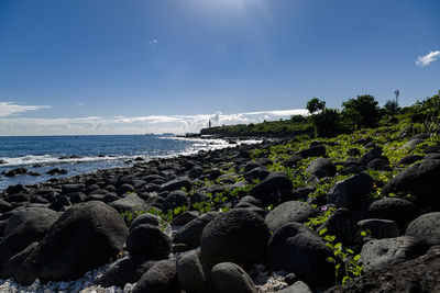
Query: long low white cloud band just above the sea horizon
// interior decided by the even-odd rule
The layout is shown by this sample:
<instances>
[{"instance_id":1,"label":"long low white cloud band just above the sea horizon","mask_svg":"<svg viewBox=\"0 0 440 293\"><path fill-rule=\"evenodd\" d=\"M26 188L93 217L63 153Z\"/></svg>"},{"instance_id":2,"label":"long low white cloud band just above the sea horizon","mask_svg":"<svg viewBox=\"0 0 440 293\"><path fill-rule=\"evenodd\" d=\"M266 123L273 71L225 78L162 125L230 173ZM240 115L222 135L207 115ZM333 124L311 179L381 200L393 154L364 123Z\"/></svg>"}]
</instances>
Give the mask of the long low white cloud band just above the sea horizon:
<instances>
[{"instance_id":1,"label":"long low white cloud band just above the sea horizon","mask_svg":"<svg viewBox=\"0 0 440 293\"><path fill-rule=\"evenodd\" d=\"M150 116L88 116L76 119L0 119L0 135L94 135L94 134L146 134L197 133L207 127L209 120L215 126L260 123L264 120L289 119L307 114L306 109L261 111L250 113Z\"/></svg>"}]
</instances>

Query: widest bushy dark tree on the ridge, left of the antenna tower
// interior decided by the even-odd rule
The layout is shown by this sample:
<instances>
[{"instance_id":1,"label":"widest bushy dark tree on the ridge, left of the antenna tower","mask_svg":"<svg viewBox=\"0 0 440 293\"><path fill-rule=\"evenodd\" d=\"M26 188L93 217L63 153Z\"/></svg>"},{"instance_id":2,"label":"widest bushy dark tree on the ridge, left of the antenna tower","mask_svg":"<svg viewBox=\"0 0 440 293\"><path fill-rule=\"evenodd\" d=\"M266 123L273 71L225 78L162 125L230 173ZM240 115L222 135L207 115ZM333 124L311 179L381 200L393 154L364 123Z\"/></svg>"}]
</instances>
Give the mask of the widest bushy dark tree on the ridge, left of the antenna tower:
<instances>
[{"instance_id":1,"label":"widest bushy dark tree on the ridge, left of the antenna tower","mask_svg":"<svg viewBox=\"0 0 440 293\"><path fill-rule=\"evenodd\" d=\"M373 95L358 95L356 99L343 102L342 106L344 121L353 123L355 129L376 127L381 120L377 101L374 100Z\"/></svg>"}]
</instances>

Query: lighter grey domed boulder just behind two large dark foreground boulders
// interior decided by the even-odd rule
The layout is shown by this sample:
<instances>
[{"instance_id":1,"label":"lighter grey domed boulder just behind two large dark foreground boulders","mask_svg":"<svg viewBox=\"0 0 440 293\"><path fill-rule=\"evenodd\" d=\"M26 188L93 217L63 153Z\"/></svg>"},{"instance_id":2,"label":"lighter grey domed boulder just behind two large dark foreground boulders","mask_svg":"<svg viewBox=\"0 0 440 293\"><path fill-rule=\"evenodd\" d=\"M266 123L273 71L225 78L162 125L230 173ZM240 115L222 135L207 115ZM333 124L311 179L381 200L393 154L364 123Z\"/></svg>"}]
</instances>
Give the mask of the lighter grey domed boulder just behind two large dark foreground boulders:
<instances>
[{"instance_id":1,"label":"lighter grey domed boulder just behind two large dark foreground boulders","mask_svg":"<svg viewBox=\"0 0 440 293\"><path fill-rule=\"evenodd\" d=\"M265 222L272 232L288 223L305 223L316 216L318 210L305 202L282 203L267 214Z\"/></svg>"}]
</instances>

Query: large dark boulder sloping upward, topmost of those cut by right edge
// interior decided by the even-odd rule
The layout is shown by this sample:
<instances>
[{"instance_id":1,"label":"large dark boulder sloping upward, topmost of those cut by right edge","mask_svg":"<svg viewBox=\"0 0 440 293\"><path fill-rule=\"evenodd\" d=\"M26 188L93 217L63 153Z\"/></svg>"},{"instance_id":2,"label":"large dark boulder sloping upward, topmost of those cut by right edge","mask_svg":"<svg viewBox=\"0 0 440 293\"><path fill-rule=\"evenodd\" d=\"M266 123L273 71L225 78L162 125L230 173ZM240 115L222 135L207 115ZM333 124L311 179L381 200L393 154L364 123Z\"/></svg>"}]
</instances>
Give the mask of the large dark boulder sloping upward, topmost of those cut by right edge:
<instances>
[{"instance_id":1,"label":"large dark boulder sloping upward, topmost of those cut by right edge","mask_svg":"<svg viewBox=\"0 0 440 293\"><path fill-rule=\"evenodd\" d=\"M407 192L422 204L440 204L440 159L425 159L410 166L394 177L382 189L387 195L392 192Z\"/></svg>"}]
</instances>

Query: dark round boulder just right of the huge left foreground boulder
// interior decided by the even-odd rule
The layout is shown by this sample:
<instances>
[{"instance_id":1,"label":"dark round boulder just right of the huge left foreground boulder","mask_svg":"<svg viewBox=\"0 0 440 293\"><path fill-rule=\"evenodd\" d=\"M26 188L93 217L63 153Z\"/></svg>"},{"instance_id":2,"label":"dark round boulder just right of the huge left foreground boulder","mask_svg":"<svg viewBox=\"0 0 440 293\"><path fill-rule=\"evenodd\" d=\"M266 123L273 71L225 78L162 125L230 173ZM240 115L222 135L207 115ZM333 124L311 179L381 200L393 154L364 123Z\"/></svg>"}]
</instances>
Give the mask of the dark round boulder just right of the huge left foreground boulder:
<instances>
[{"instance_id":1,"label":"dark round boulder just right of the huge left foreground boulder","mask_svg":"<svg viewBox=\"0 0 440 293\"><path fill-rule=\"evenodd\" d=\"M172 251L172 240L158 227L142 224L130 232L127 250L132 256L161 260L167 258Z\"/></svg>"}]
</instances>

